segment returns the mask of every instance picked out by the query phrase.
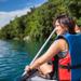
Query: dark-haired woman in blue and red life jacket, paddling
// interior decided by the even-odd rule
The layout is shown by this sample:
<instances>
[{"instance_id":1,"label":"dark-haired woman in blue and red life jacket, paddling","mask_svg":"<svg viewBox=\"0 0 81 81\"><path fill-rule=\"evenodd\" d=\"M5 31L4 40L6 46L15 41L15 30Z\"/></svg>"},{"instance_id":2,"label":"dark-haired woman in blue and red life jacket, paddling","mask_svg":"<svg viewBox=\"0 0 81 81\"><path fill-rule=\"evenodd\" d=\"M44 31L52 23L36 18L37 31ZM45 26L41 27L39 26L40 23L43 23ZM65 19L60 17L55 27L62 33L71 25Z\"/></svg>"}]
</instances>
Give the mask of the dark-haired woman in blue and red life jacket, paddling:
<instances>
[{"instance_id":1,"label":"dark-haired woman in blue and red life jacket, paddling","mask_svg":"<svg viewBox=\"0 0 81 81\"><path fill-rule=\"evenodd\" d=\"M58 80L59 81L81 80L81 65L75 66L77 64L81 64L81 58L80 58L81 51L79 49L79 46L81 46L81 42L80 41L76 42L76 40L77 41L81 40L80 38L81 35L76 35L75 21L65 14L60 14L56 17L55 22L53 21L53 26L55 27L57 35L56 40L51 44L49 50L42 56L40 56L35 60L32 65L26 66L25 70L29 72L32 69L39 69L39 67L43 66L43 64L46 64L46 62L51 60L52 57L57 55L59 57ZM76 43L76 45L73 42ZM72 45L72 48L70 44ZM77 68L77 70L73 68ZM44 70L51 72L52 66L50 66L49 69L44 68Z\"/></svg>"}]
</instances>

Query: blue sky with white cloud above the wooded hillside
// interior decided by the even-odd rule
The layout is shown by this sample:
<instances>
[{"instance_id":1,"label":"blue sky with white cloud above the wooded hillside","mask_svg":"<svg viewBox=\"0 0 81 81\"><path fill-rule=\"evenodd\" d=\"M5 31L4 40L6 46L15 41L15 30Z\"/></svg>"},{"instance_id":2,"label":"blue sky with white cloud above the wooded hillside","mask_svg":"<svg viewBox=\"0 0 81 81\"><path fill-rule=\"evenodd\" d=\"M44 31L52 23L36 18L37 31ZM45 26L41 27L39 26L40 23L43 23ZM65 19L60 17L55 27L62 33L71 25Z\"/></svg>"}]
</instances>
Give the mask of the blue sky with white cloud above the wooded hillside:
<instances>
[{"instance_id":1,"label":"blue sky with white cloud above the wooded hillside","mask_svg":"<svg viewBox=\"0 0 81 81\"><path fill-rule=\"evenodd\" d=\"M48 0L0 0L0 28L29 12L29 8L39 6Z\"/></svg>"}]
</instances>

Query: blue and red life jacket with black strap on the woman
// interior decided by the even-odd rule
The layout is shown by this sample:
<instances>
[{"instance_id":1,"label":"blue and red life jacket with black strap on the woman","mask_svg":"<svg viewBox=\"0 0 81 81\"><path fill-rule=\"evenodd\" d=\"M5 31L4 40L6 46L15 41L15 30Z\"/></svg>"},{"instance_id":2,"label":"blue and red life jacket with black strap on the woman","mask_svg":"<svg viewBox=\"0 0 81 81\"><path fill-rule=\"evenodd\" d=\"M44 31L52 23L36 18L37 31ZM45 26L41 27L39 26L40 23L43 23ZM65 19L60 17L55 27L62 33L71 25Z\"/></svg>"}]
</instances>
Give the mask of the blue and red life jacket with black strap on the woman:
<instances>
[{"instance_id":1,"label":"blue and red life jacket with black strap on the woman","mask_svg":"<svg viewBox=\"0 0 81 81\"><path fill-rule=\"evenodd\" d=\"M58 60L59 81L81 81L81 33L62 37L67 41L69 51Z\"/></svg>"}]
</instances>

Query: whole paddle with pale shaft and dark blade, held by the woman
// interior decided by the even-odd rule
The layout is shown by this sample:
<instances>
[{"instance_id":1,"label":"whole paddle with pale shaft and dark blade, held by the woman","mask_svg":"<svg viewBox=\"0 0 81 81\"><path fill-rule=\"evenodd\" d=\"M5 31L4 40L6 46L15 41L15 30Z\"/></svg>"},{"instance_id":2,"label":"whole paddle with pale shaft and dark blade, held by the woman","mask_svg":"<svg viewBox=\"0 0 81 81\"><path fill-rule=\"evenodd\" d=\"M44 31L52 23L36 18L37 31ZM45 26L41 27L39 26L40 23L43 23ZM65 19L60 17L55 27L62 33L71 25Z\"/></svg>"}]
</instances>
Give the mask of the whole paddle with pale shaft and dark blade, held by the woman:
<instances>
[{"instance_id":1,"label":"whole paddle with pale shaft and dark blade, held by the woman","mask_svg":"<svg viewBox=\"0 0 81 81\"><path fill-rule=\"evenodd\" d=\"M55 32L55 29L51 32L51 35L49 36L49 38L46 39L46 41L44 42L44 44L41 46L41 49L38 51L38 53L36 54L35 58L32 59L32 62L30 63L33 64L33 62L38 58L38 56L41 54L42 50L44 49L44 46L48 44L48 42L50 41L51 37L53 36L53 33ZM36 70L35 70L36 71ZM31 71L31 73L33 73L35 71ZM26 81L26 79L28 78L27 71L25 71L22 75L22 80L21 81Z\"/></svg>"}]
</instances>

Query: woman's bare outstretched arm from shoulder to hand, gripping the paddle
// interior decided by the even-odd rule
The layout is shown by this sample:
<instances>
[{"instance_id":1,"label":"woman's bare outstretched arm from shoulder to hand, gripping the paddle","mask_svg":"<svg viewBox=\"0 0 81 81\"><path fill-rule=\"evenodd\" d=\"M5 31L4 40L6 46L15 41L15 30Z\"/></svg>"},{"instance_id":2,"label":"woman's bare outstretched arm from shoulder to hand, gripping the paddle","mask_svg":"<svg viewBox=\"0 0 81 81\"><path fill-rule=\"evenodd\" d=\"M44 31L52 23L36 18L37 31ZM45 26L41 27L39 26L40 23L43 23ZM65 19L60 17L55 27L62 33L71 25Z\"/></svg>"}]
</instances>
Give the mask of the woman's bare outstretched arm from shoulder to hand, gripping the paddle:
<instances>
[{"instance_id":1,"label":"woman's bare outstretched arm from shoulder to hand, gripping the paddle","mask_svg":"<svg viewBox=\"0 0 81 81\"><path fill-rule=\"evenodd\" d=\"M29 69L38 68L40 65L49 62L53 56L58 54L58 52L65 51L66 49L68 50L68 44L64 39L56 40L41 57L37 58L35 63L25 68L25 70L28 71Z\"/></svg>"}]
</instances>

